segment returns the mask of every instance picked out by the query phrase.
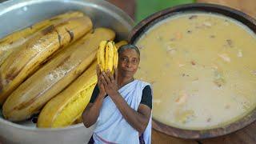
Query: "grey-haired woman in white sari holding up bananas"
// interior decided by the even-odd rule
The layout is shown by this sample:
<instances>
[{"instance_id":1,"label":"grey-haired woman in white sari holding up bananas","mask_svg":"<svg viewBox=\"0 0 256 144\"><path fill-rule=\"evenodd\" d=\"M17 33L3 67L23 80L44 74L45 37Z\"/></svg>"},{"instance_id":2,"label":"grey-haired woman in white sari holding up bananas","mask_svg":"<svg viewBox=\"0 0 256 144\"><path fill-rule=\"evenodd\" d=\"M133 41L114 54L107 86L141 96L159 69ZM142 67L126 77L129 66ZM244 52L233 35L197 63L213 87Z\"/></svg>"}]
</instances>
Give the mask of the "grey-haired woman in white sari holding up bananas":
<instances>
[{"instance_id":1,"label":"grey-haired woman in white sari holding up bananas","mask_svg":"<svg viewBox=\"0 0 256 144\"><path fill-rule=\"evenodd\" d=\"M82 114L86 127L96 122L89 143L150 143L152 92L149 83L134 79L140 52L128 44L118 57L114 75L97 67L98 84Z\"/></svg>"}]
</instances>

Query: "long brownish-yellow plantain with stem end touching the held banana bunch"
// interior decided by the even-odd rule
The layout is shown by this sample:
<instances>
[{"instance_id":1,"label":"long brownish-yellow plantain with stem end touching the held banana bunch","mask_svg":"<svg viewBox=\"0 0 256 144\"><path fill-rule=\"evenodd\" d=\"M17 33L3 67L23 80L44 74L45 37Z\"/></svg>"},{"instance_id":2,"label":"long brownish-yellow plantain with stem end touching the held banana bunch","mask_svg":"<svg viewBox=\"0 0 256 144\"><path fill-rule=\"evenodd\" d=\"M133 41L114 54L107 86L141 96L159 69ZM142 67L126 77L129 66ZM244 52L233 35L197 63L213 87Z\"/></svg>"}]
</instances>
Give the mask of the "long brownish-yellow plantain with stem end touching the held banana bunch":
<instances>
[{"instance_id":1,"label":"long brownish-yellow plantain with stem end touching the held banana bunch","mask_svg":"<svg viewBox=\"0 0 256 144\"><path fill-rule=\"evenodd\" d=\"M113 40L114 36L113 30L98 28L93 34L86 34L50 59L10 94L2 106L4 118L18 122L38 113L46 102L90 66L95 59L98 43L102 40Z\"/></svg>"}]
</instances>

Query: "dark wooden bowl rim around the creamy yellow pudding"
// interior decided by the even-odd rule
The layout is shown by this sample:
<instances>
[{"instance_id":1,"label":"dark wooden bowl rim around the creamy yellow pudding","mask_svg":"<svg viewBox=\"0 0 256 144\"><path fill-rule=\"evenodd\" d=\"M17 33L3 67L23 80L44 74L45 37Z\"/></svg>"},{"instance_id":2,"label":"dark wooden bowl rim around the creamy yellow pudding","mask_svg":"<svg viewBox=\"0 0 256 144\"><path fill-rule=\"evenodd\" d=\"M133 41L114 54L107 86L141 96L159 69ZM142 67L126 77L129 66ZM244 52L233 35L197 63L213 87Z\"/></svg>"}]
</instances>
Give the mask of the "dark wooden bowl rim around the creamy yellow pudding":
<instances>
[{"instance_id":1,"label":"dark wooden bowl rim around the creamy yellow pudding","mask_svg":"<svg viewBox=\"0 0 256 144\"><path fill-rule=\"evenodd\" d=\"M131 43L136 43L138 38L142 36L151 26L155 23L160 22L162 19L168 18L179 12L193 12L193 11L204 11L212 12L217 14L223 14L227 17L234 18L239 22L242 22L248 26L251 30L256 33L256 21L249 15L244 14L238 10L231 9L226 6L219 6L214 4L196 3L187 4L182 6L171 7L166 10L159 11L158 13L150 15L148 18L139 22L137 26L131 31L129 40ZM154 112L153 112L154 113ZM182 130L173 126L166 126L165 124L158 122L153 117L153 128L164 134L169 134L178 138L189 138L189 139L201 139L201 138L214 138L225 134L230 134L236 130L240 130L243 127L250 125L256 119L256 108L247 114L245 117L240 118L238 121L231 123L227 126L214 128L210 130Z\"/></svg>"}]
</instances>

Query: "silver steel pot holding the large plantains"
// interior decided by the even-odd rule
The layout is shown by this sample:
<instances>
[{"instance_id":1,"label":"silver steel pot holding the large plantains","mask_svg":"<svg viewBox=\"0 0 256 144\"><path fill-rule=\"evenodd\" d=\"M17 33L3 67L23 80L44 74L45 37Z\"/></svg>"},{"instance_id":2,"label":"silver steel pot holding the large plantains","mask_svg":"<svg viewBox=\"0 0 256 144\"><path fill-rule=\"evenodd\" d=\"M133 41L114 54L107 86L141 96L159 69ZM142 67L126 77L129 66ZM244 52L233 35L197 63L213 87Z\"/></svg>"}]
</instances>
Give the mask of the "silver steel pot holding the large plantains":
<instances>
[{"instance_id":1,"label":"silver steel pot holding the large plantains","mask_svg":"<svg viewBox=\"0 0 256 144\"><path fill-rule=\"evenodd\" d=\"M134 26L128 14L104 0L10 0L0 3L0 38L69 10L89 15L94 27L111 28L117 40L127 39ZM38 129L30 121L8 122L1 111L0 108L0 143L87 143L94 129L94 126L86 129L82 123L61 129Z\"/></svg>"}]
</instances>

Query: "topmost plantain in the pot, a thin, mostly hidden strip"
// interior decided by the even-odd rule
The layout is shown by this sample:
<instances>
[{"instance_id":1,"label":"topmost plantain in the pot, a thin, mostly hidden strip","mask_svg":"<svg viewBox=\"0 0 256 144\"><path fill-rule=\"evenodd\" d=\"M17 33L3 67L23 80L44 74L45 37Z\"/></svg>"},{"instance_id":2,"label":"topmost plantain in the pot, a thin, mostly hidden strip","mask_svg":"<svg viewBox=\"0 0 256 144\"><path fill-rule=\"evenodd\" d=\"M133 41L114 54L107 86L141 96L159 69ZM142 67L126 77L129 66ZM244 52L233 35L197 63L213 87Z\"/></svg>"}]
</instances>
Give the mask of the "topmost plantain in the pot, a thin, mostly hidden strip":
<instances>
[{"instance_id":1,"label":"topmost plantain in the pot, a thin, mostly hidden strip","mask_svg":"<svg viewBox=\"0 0 256 144\"><path fill-rule=\"evenodd\" d=\"M40 32L40 30L45 29L47 26L58 24L59 22L66 21L69 18L82 17L82 12L71 11L65 14L57 15L53 18L46 19L42 22L35 23L34 25L16 31L12 34L7 35L5 38L0 39L0 66L2 62L15 50L18 46L21 46L24 42L28 41L30 38Z\"/></svg>"}]
</instances>

